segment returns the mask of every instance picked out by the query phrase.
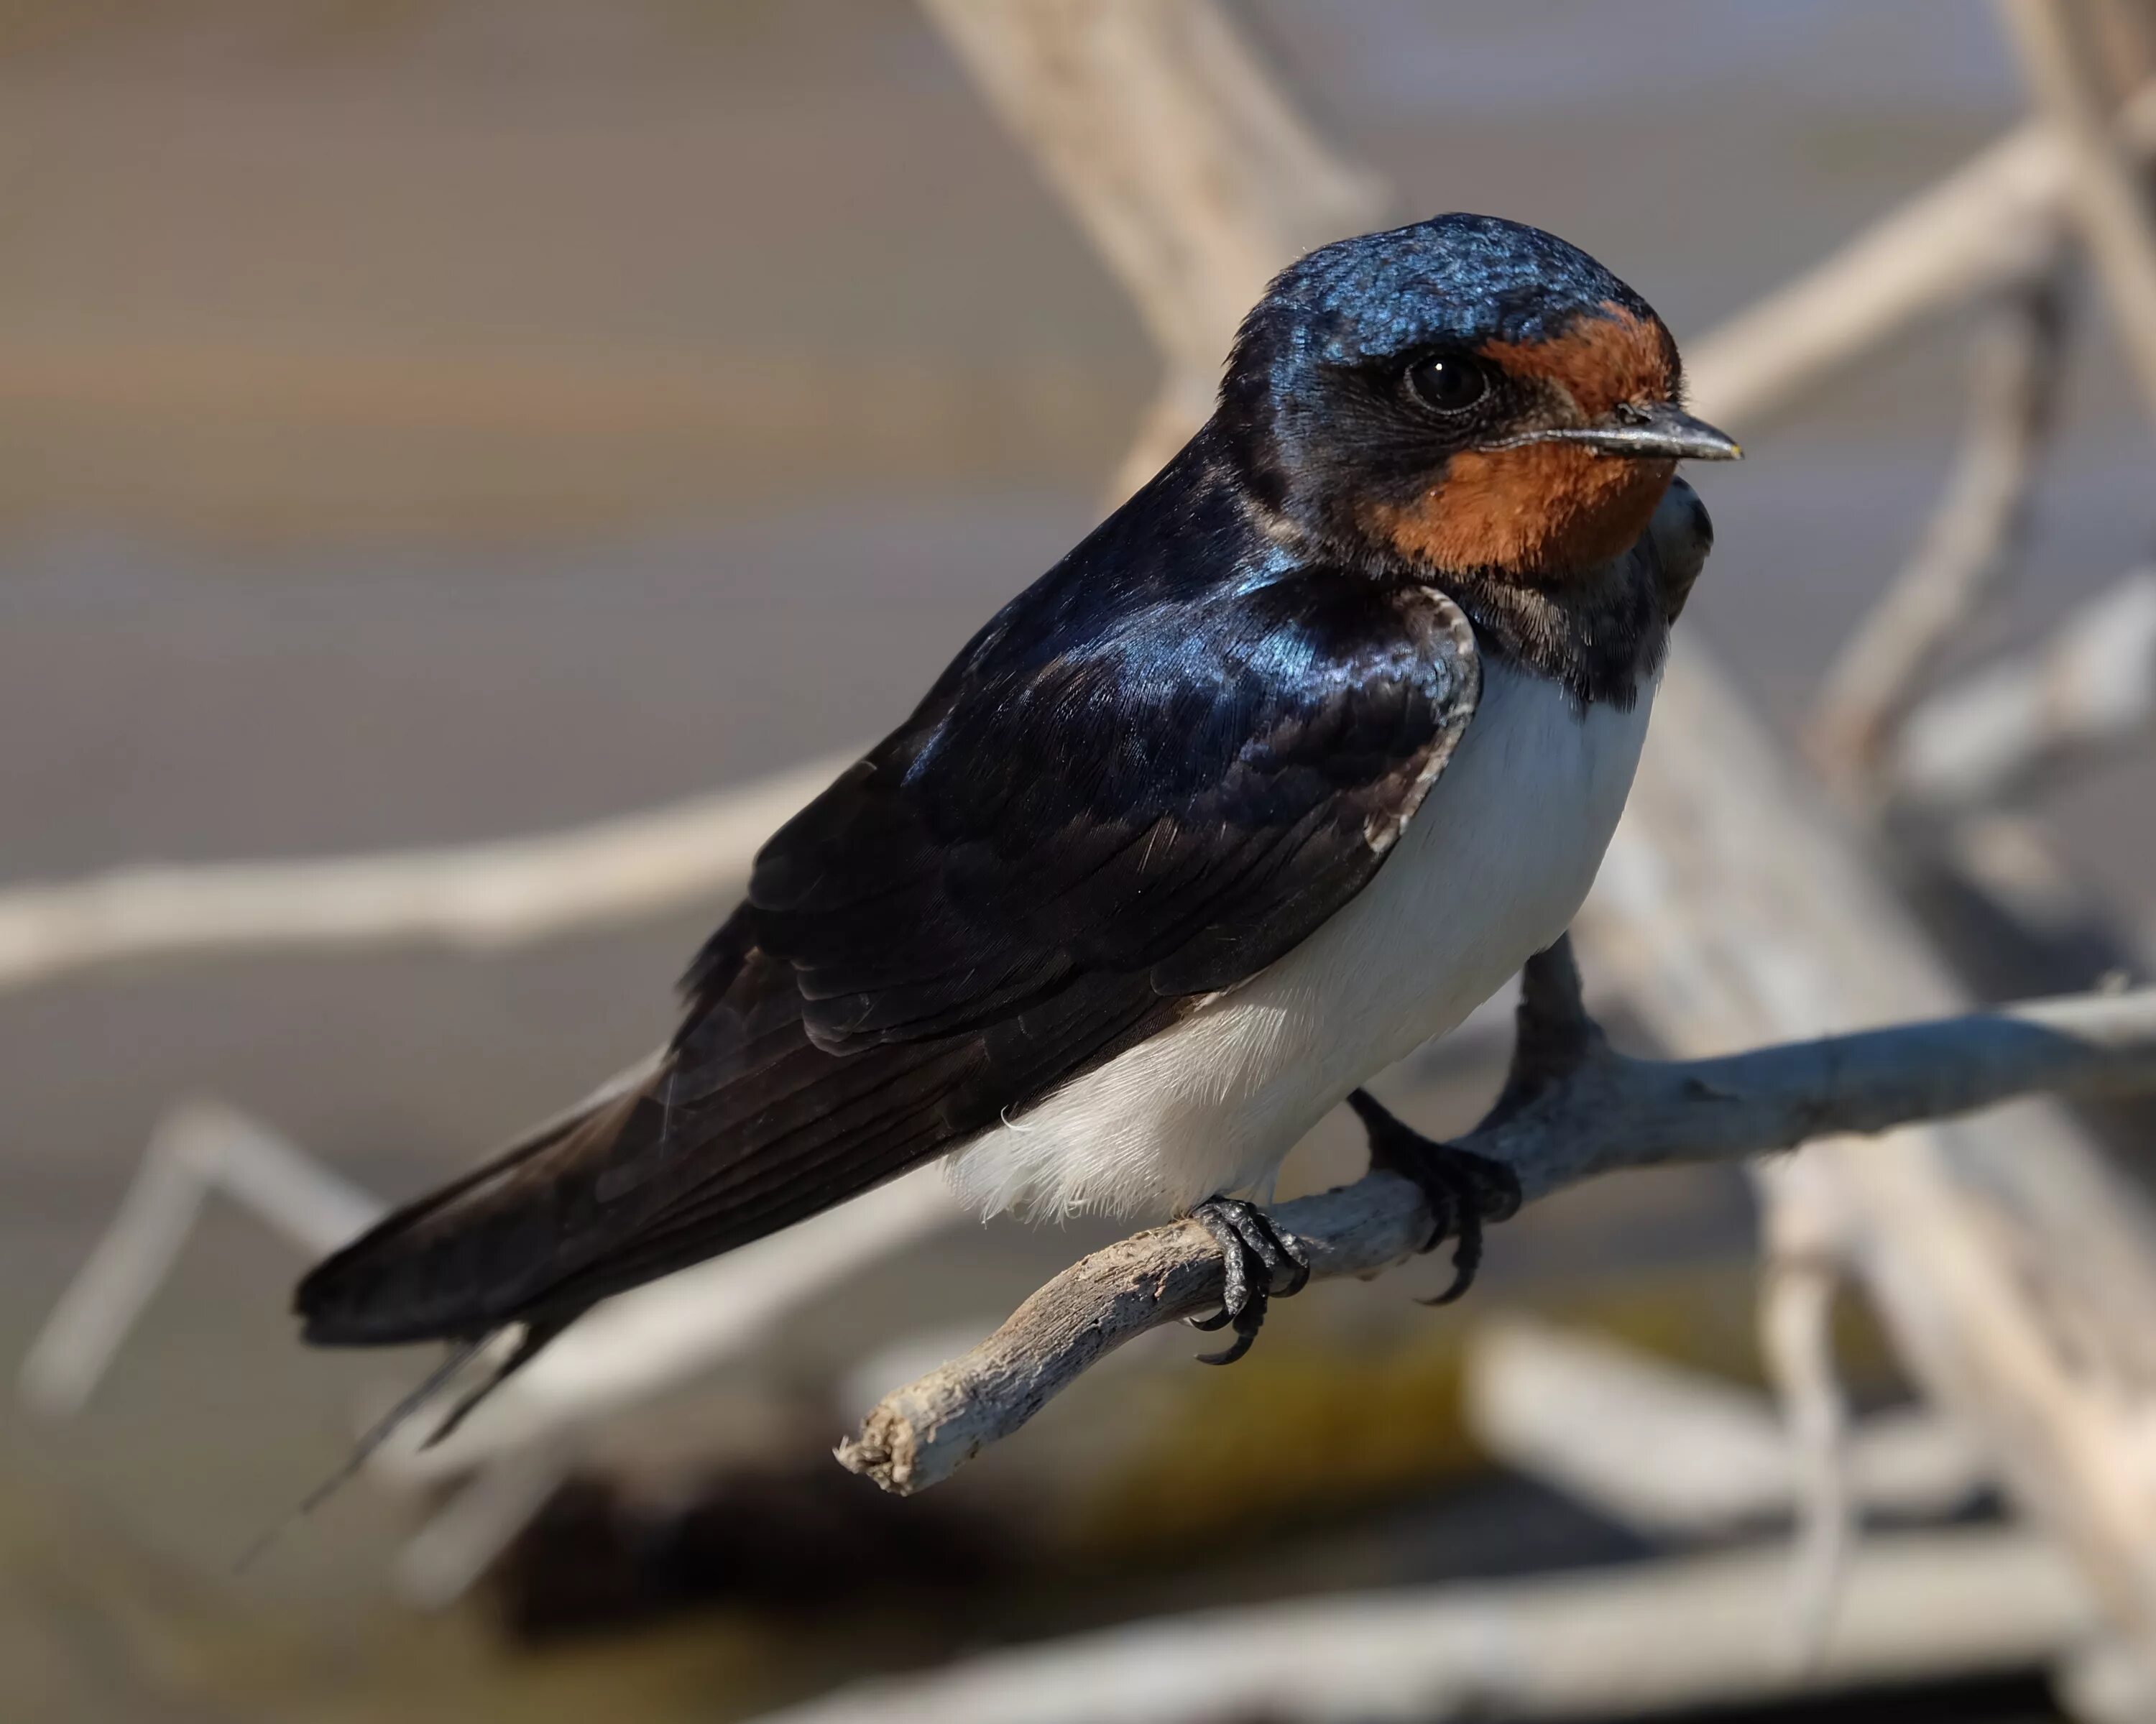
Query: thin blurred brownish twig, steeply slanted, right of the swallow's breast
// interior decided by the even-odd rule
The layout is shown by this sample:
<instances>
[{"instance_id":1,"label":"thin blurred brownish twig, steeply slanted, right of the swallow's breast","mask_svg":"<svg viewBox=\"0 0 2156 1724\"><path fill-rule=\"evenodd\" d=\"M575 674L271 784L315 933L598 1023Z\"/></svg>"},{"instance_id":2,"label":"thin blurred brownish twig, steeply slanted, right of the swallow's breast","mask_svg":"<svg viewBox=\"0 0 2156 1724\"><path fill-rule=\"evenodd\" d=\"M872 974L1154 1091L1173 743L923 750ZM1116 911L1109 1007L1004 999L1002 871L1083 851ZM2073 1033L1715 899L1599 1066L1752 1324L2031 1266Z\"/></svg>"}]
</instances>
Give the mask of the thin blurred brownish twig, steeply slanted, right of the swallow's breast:
<instances>
[{"instance_id":1,"label":"thin blurred brownish twig, steeply slanted, right of the swallow's breast","mask_svg":"<svg viewBox=\"0 0 2156 1724\"><path fill-rule=\"evenodd\" d=\"M2037 453L2059 399L2057 272L2014 293L1977 338L1968 429L1923 543L1828 668L1809 724L1811 756L1869 800L1878 756L1932 666L1979 616L2020 554Z\"/></svg>"}]
</instances>

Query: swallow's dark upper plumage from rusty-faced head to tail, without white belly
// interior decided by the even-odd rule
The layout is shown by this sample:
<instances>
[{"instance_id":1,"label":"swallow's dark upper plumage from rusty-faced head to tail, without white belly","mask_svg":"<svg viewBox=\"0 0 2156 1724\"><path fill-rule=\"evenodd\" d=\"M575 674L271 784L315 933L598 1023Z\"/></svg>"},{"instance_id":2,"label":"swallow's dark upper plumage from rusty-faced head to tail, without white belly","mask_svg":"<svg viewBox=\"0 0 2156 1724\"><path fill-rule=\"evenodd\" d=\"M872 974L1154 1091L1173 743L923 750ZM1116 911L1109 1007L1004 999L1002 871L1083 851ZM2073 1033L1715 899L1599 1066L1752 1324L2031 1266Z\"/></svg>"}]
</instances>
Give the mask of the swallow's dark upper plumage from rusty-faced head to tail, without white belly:
<instances>
[{"instance_id":1,"label":"swallow's dark upper plumage from rusty-faced head to tail, without white belly","mask_svg":"<svg viewBox=\"0 0 2156 1724\"><path fill-rule=\"evenodd\" d=\"M1673 390L1645 302L1535 228L1291 265L1214 420L765 845L655 1073L317 1267L308 1338L543 1338L1266 970L1378 873L1479 653L1583 707L1651 672L1682 590L1598 547L1703 433Z\"/></svg>"}]
</instances>

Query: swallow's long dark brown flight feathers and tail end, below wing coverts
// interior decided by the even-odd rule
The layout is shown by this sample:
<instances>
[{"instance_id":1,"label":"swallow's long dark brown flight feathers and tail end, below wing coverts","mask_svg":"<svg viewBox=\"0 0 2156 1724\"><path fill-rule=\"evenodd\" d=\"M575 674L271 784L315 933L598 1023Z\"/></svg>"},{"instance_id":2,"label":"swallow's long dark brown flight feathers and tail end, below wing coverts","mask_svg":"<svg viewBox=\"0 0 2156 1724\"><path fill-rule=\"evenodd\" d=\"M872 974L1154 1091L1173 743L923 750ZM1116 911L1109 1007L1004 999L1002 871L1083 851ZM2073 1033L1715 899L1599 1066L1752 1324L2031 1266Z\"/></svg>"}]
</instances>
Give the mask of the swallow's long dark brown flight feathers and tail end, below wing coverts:
<instances>
[{"instance_id":1,"label":"swallow's long dark brown flight feathers and tail end, below wing coverts","mask_svg":"<svg viewBox=\"0 0 2156 1724\"><path fill-rule=\"evenodd\" d=\"M692 974L662 1054L317 1265L295 1293L306 1340L476 1349L513 1330L440 1440L599 1299L882 1185L996 1116L977 1039L828 1052L791 968L729 959L718 985Z\"/></svg>"}]
</instances>

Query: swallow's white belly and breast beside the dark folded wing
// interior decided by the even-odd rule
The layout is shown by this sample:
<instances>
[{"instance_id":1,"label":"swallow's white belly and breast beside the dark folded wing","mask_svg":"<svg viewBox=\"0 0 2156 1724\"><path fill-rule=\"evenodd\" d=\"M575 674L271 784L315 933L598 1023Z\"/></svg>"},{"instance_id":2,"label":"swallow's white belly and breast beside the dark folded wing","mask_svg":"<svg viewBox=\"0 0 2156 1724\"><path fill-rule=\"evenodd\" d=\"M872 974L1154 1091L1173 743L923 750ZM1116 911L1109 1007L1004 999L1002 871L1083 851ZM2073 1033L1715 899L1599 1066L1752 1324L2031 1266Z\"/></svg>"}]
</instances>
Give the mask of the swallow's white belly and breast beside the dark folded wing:
<instances>
[{"instance_id":1,"label":"swallow's white belly and breast beside the dark folded wing","mask_svg":"<svg viewBox=\"0 0 2156 1724\"><path fill-rule=\"evenodd\" d=\"M1445 1034L1565 931L1647 735L1651 690L1578 718L1483 662L1451 765L1378 877L1279 963L953 1151L983 1211L1171 1213L1270 1181L1373 1073Z\"/></svg>"}]
</instances>

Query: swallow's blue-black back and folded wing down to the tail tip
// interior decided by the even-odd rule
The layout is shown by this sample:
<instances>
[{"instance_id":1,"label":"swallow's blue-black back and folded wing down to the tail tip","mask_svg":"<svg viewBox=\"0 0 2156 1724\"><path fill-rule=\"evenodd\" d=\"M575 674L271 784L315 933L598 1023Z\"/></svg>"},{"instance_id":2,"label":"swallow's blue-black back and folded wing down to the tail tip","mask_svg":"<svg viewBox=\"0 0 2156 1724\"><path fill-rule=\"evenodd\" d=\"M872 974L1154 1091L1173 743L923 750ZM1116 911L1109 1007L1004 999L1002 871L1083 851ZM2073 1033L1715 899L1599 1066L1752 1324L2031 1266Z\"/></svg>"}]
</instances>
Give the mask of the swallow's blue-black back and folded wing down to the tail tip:
<instances>
[{"instance_id":1,"label":"swallow's blue-black back and folded wing down to the tail tip","mask_svg":"<svg viewBox=\"0 0 2156 1724\"><path fill-rule=\"evenodd\" d=\"M1287 558L1201 433L765 845L651 1075L326 1261L308 1338L552 1330L1031 1106L1352 899L1477 683L1445 597Z\"/></svg>"}]
</instances>

